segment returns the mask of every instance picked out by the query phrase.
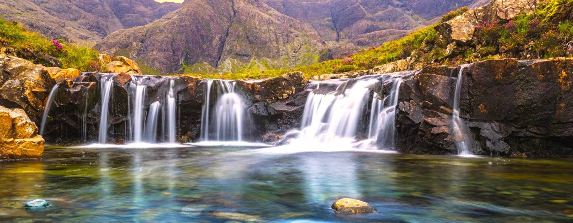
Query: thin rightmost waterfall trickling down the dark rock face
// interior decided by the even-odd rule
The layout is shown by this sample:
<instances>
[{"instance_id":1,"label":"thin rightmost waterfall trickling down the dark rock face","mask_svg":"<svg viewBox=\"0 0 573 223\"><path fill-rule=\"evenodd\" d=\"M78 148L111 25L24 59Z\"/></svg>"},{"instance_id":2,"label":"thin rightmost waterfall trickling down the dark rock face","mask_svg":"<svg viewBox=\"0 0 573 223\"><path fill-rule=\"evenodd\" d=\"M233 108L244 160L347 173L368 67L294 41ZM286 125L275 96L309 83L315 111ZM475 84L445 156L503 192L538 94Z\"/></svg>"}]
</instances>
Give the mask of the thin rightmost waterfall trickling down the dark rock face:
<instances>
[{"instance_id":1,"label":"thin rightmost waterfall trickling down the dark rock face","mask_svg":"<svg viewBox=\"0 0 573 223\"><path fill-rule=\"evenodd\" d=\"M462 119L460 119L460 95L462 90L462 73L464 68L468 65L460 66L460 72L458 73L456 80L456 92L454 93L454 105L452 112L452 132L454 134L454 141L456 141L456 147L458 149L458 155L472 155L469 151L469 145L471 145L469 138L466 133L467 127Z\"/></svg>"}]
</instances>

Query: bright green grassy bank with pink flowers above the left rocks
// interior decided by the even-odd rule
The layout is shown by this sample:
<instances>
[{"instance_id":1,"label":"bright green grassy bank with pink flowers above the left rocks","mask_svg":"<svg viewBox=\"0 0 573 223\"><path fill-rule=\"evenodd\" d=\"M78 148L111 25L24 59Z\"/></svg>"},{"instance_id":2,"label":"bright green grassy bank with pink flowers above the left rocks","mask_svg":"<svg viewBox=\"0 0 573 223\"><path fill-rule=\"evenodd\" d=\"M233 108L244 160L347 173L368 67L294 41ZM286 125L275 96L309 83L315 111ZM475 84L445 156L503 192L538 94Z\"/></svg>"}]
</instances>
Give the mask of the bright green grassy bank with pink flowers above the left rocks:
<instances>
[{"instance_id":1,"label":"bright green grassy bank with pink flowers above the left rocks","mask_svg":"<svg viewBox=\"0 0 573 223\"><path fill-rule=\"evenodd\" d=\"M0 19L0 43L3 43L17 52L26 49L38 55L50 55L62 62L62 68L76 68L81 71L96 71L97 56L99 52L91 48L76 46L58 40L63 46L58 50L52 40L48 40L40 34L26 31L22 26L14 22ZM34 58L32 59L33 62Z\"/></svg>"}]
</instances>

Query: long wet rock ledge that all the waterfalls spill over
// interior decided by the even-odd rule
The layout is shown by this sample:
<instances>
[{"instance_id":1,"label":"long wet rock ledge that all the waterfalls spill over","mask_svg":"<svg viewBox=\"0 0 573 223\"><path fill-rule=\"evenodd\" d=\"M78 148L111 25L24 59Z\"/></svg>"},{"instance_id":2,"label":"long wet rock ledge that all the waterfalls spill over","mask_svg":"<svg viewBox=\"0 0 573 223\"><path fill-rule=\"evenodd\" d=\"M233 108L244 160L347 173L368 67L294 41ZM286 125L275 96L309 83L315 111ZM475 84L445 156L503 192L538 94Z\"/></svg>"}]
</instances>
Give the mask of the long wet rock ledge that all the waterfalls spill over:
<instances>
[{"instance_id":1,"label":"long wet rock ledge that all the waterfalls spill over","mask_svg":"<svg viewBox=\"0 0 573 223\"><path fill-rule=\"evenodd\" d=\"M129 129L129 82L138 77L139 68L129 62L112 62L111 58L102 60L108 67L124 71L113 78L108 134L109 142L123 143ZM302 73L293 72L264 80L237 80L236 91L245 97L253 117L252 139L274 142L290 129L300 127L305 100L316 81L353 79L381 74L384 70L377 67L325 74L313 77L312 82ZM457 154L450 124L460 70L461 67L428 66L411 71L412 75L402 82L395 122L398 151ZM7 55L0 55L0 72L0 106L22 109L36 123L41 121L50 90L60 83L46 124L44 138L48 143L97 140L101 110L99 78L103 74L46 68ZM469 128L467 136L472 139L474 154L573 156L573 59L485 60L469 64L461 70L461 75L461 118ZM167 80L174 80L176 86L177 140L197 140L206 81L193 76L146 76L149 90L144 106L162 97L169 85ZM387 87L375 86L371 91L383 94ZM364 109L365 113L369 110ZM368 123L367 119L364 117L363 123ZM34 139L36 133L31 134L22 139Z\"/></svg>"}]
</instances>

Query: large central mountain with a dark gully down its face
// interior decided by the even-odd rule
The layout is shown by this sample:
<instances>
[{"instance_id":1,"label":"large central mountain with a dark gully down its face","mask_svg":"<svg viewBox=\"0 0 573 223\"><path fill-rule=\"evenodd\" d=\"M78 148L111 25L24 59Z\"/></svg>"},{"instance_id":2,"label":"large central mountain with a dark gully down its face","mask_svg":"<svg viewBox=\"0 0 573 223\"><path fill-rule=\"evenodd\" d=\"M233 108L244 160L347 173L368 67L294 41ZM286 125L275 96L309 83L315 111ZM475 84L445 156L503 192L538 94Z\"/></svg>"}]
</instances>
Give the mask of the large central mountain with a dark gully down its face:
<instances>
[{"instance_id":1,"label":"large central mountain with a dark gully down its face","mask_svg":"<svg viewBox=\"0 0 573 223\"><path fill-rule=\"evenodd\" d=\"M194 0L116 31L96 49L135 59L152 74L293 67L316 63L324 46L316 31L260 0Z\"/></svg>"}]
</instances>

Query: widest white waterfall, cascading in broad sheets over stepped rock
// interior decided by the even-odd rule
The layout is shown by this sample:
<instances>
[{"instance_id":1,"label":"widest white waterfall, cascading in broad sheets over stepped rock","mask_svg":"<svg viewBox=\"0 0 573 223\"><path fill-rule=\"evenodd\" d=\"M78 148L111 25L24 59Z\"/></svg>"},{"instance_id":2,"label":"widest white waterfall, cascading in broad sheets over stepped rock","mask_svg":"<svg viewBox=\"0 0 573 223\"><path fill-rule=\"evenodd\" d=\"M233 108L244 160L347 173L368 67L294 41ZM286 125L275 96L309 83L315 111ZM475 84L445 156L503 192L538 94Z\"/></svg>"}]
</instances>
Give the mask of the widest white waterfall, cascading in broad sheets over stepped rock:
<instances>
[{"instance_id":1,"label":"widest white waterfall, cascading in broad sheets over stepped rock","mask_svg":"<svg viewBox=\"0 0 573 223\"><path fill-rule=\"evenodd\" d=\"M287 133L295 137L287 137L285 152L301 149L384 152L378 149L394 148L399 88L403 78L412 74L414 72L398 72L312 82L316 88L309 92L300 131ZM388 94L380 95L374 91L376 86L380 86L382 92L384 86L390 86Z\"/></svg>"}]
</instances>

